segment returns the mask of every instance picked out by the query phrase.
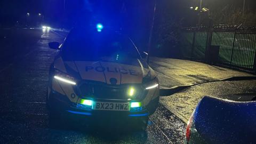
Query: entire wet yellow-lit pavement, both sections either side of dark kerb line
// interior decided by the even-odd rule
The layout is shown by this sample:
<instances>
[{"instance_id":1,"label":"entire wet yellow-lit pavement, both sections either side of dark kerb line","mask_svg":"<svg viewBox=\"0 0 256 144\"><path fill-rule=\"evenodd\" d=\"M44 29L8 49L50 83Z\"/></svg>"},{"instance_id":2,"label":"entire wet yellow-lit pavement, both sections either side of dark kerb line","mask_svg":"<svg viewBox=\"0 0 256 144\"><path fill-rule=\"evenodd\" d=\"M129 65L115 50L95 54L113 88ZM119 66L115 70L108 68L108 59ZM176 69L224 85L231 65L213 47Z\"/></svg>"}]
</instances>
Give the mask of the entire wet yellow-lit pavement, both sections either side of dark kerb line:
<instances>
[{"instance_id":1,"label":"entire wet yellow-lit pavement, both sections either side of dark kerb line","mask_svg":"<svg viewBox=\"0 0 256 144\"><path fill-rule=\"evenodd\" d=\"M240 95L241 99L248 94L256 97L256 81L253 80L256 76L250 73L170 58L153 57L149 64L158 73L163 96L160 102L185 123L206 95L229 100L235 99L225 97L231 93ZM250 80L238 81L246 79Z\"/></svg>"}]
</instances>

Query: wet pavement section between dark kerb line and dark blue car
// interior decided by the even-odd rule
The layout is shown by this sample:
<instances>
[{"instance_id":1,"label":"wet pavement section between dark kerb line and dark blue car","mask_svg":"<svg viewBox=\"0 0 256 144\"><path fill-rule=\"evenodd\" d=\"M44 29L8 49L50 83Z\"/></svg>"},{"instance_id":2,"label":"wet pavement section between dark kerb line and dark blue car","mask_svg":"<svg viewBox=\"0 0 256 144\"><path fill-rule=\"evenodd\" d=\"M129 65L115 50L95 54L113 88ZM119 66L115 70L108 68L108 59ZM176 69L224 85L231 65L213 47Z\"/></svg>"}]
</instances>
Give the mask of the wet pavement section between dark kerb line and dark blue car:
<instances>
[{"instance_id":1,"label":"wet pavement section between dark kerb line and dark blue car","mask_svg":"<svg viewBox=\"0 0 256 144\"><path fill-rule=\"evenodd\" d=\"M251 101L256 98L256 80L198 84L170 96L161 97L160 102L186 123L197 103L206 95L234 101Z\"/></svg>"}]
</instances>

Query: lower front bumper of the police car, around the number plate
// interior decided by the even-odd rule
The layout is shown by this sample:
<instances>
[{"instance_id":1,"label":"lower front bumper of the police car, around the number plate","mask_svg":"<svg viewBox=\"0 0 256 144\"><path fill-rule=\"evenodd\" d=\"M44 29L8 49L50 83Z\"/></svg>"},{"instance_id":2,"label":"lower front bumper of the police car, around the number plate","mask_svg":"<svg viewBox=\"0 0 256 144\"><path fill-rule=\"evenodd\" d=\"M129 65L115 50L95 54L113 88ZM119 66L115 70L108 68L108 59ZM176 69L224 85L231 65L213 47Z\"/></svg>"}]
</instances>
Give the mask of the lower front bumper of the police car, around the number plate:
<instances>
[{"instance_id":1,"label":"lower front bumper of the police car, around the number plate","mask_svg":"<svg viewBox=\"0 0 256 144\"><path fill-rule=\"evenodd\" d=\"M97 99L95 100L97 101ZM111 102L127 102L122 100L100 100L100 101L111 101ZM86 107L81 104L71 102L66 95L62 95L58 92L52 91L51 97L47 102L49 108L58 113L64 115L77 115L86 117L98 117L98 118L108 118L108 117L118 117L124 118L134 118L134 117L148 117L148 111L145 107L131 108L130 111L107 111L107 110L93 110L91 107Z\"/></svg>"}]
</instances>

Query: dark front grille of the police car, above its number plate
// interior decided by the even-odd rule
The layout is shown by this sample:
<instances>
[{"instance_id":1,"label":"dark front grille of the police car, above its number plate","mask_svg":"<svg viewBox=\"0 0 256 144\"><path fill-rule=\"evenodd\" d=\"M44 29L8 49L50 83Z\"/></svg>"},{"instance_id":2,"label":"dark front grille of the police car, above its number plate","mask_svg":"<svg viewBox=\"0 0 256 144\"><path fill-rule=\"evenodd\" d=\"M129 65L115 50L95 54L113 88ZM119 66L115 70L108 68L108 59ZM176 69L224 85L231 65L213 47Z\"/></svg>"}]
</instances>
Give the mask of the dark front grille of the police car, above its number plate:
<instances>
[{"instance_id":1,"label":"dark front grille of the police car, above its number plate","mask_svg":"<svg viewBox=\"0 0 256 144\"><path fill-rule=\"evenodd\" d=\"M127 94L130 87L134 87L135 93L132 97ZM141 85L109 86L84 83L79 86L82 97L99 99L141 99L145 95Z\"/></svg>"}]
</instances>

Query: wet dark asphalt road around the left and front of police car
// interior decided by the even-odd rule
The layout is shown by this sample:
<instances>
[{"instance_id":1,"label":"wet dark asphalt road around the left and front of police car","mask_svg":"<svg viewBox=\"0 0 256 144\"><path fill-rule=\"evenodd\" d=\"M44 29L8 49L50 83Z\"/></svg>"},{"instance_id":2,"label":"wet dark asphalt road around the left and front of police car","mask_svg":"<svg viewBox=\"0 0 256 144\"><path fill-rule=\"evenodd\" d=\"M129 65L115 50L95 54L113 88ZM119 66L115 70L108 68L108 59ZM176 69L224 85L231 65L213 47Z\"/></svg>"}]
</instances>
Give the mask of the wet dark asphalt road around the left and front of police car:
<instances>
[{"instance_id":1,"label":"wet dark asphalt road around the left and front of police car","mask_svg":"<svg viewBox=\"0 0 256 144\"><path fill-rule=\"evenodd\" d=\"M4 52L0 63L0 143L183 142L186 124L162 105L150 116L146 132L126 131L123 127L115 132L106 127L87 130L71 122L51 129L45 98L48 70L56 51L47 43L62 42L64 37L37 29L0 33Z\"/></svg>"}]
</instances>

